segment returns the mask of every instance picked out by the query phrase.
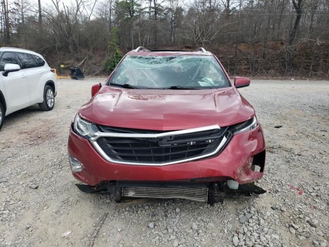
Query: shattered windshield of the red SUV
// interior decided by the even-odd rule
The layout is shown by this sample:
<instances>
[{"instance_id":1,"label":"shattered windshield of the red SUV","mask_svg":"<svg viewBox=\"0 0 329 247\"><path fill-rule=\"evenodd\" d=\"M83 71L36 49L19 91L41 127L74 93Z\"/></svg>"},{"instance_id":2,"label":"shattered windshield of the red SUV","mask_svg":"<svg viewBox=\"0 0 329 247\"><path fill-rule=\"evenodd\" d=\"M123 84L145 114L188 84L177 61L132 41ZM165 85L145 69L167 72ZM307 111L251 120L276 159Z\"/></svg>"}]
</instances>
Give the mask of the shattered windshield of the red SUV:
<instances>
[{"instance_id":1,"label":"shattered windshield of the red SUV","mask_svg":"<svg viewBox=\"0 0 329 247\"><path fill-rule=\"evenodd\" d=\"M109 85L126 88L209 89L230 86L213 56L126 56Z\"/></svg>"}]
</instances>

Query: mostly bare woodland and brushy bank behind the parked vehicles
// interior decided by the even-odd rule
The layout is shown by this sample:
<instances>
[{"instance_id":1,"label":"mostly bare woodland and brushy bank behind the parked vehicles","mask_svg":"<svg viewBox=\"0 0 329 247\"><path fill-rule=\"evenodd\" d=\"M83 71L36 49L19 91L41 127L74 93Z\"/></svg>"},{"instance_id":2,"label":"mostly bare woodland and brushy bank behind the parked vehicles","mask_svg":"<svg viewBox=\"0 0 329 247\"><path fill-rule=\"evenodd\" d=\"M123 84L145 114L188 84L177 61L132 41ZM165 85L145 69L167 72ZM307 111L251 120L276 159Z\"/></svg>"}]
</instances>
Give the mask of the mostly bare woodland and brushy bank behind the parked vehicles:
<instances>
[{"instance_id":1,"label":"mostly bare woodland and brushy bank behind the parked vehicles","mask_svg":"<svg viewBox=\"0 0 329 247\"><path fill-rule=\"evenodd\" d=\"M230 76L329 77L329 0L35 1L2 1L1 46L34 50L64 74L106 75L144 46L205 47Z\"/></svg>"}]
</instances>

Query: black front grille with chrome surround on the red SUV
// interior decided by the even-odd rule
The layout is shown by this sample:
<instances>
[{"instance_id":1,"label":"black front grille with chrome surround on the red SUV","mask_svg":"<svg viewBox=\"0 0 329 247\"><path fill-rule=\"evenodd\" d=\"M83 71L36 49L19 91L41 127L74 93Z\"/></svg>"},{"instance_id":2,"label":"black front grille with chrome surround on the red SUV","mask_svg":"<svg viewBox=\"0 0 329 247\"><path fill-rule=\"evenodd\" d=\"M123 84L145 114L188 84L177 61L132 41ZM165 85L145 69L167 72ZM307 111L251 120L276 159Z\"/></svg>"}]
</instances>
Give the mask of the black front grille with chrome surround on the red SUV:
<instances>
[{"instance_id":1,"label":"black front grille with chrome surround on the red SUV","mask_svg":"<svg viewBox=\"0 0 329 247\"><path fill-rule=\"evenodd\" d=\"M206 128L206 127L205 127ZM219 152L226 140L227 128L155 132L100 127L106 134L97 137L96 147L107 160L125 164L173 164L195 160ZM144 133L143 133L144 132Z\"/></svg>"}]
</instances>

